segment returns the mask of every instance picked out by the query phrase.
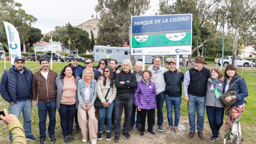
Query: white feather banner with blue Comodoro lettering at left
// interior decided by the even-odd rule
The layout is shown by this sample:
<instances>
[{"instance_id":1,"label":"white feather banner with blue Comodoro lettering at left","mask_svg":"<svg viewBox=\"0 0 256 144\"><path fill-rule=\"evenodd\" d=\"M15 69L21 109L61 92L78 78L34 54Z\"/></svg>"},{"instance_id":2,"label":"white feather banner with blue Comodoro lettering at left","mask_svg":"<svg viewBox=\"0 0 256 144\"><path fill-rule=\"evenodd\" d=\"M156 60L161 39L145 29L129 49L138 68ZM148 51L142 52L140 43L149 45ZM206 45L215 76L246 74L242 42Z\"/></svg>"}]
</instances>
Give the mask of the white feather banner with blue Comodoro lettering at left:
<instances>
[{"instance_id":1,"label":"white feather banner with blue Comodoro lettering at left","mask_svg":"<svg viewBox=\"0 0 256 144\"><path fill-rule=\"evenodd\" d=\"M21 56L20 52L20 36L17 29L9 22L4 21L5 32L8 40L11 63L13 65L14 58Z\"/></svg>"}]
</instances>

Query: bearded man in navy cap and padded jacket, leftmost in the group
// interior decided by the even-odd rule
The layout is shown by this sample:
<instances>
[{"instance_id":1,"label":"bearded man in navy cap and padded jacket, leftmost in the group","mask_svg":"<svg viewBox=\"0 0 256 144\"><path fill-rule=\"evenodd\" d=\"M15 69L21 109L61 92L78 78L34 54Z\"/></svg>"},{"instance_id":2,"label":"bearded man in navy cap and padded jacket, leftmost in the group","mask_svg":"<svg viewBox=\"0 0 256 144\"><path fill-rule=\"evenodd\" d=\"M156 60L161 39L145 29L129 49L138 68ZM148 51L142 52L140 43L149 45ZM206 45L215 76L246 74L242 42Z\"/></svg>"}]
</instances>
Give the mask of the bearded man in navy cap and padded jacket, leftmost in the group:
<instances>
[{"instance_id":1,"label":"bearded man in navy cap and padded jacket, leftmost in the group","mask_svg":"<svg viewBox=\"0 0 256 144\"><path fill-rule=\"evenodd\" d=\"M9 102L9 111L19 119L23 114L23 127L26 140L37 141L38 138L32 135L31 112L32 112L32 80L33 73L25 68L25 60L18 56L14 59L14 65L6 70L0 83L0 93L3 99ZM9 133L12 143L12 134Z\"/></svg>"}]
</instances>

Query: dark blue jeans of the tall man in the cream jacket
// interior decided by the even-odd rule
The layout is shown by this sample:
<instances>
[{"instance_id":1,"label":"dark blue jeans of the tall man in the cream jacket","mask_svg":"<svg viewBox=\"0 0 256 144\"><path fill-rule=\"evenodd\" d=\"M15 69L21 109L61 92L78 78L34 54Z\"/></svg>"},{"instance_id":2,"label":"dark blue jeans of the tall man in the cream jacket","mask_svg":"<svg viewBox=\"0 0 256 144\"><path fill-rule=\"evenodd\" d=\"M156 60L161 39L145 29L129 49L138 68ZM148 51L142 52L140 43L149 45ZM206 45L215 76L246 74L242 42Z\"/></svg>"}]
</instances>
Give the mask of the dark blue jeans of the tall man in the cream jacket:
<instances>
[{"instance_id":1,"label":"dark blue jeans of the tall man in the cream jacket","mask_svg":"<svg viewBox=\"0 0 256 144\"><path fill-rule=\"evenodd\" d=\"M157 108L157 125L163 125L164 122L164 116L163 116L163 106L164 106L164 92L160 92L156 95L156 108ZM153 112L153 117L152 117L152 127L155 125L155 110Z\"/></svg>"}]
</instances>

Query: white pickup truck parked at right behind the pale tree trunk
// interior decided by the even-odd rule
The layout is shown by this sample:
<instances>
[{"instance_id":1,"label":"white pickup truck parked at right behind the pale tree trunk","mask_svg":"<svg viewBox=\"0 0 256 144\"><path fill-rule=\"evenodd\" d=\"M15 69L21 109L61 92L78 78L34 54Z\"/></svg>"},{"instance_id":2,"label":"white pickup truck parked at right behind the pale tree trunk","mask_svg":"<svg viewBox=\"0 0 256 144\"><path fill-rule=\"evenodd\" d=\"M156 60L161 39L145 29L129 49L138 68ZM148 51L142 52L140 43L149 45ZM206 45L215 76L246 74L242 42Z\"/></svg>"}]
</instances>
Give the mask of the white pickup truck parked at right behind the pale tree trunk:
<instances>
[{"instance_id":1,"label":"white pickup truck parked at right behind the pale tree trunk","mask_svg":"<svg viewBox=\"0 0 256 144\"><path fill-rule=\"evenodd\" d=\"M218 63L220 66L220 64L222 63L222 58L215 59L214 62ZM224 56L223 57L223 66L226 67L229 64L232 64L232 56ZM240 57L236 57L236 66L253 67L254 64L253 64L253 62L251 62L249 60L243 60Z\"/></svg>"}]
</instances>

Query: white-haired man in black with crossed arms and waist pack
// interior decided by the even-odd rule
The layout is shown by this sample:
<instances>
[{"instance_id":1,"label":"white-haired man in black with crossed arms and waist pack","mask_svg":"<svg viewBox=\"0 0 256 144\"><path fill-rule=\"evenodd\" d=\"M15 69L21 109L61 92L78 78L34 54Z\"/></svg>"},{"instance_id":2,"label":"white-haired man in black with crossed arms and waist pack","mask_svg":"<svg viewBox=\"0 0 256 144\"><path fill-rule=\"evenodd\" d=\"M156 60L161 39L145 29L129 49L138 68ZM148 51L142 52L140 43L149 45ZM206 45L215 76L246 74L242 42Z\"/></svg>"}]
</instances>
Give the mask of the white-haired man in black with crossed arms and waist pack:
<instances>
[{"instance_id":1,"label":"white-haired man in black with crossed arms and waist pack","mask_svg":"<svg viewBox=\"0 0 256 144\"><path fill-rule=\"evenodd\" d=\"M121 133L121 117L124 108L124 125L123 133L127 139L131 138L128 133L131 122L132 115L132 105L133 105L133 94L134 89L137 86L136 76L131 73L132 63L130 60L125 60L123 62L123 69L121 73L115 76L115 86L116 86L116 99L115 99L115 142L119 141L119 136Z\"/></svg>"}]
</instances>

